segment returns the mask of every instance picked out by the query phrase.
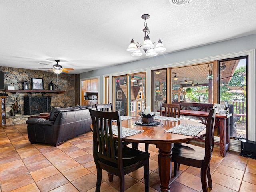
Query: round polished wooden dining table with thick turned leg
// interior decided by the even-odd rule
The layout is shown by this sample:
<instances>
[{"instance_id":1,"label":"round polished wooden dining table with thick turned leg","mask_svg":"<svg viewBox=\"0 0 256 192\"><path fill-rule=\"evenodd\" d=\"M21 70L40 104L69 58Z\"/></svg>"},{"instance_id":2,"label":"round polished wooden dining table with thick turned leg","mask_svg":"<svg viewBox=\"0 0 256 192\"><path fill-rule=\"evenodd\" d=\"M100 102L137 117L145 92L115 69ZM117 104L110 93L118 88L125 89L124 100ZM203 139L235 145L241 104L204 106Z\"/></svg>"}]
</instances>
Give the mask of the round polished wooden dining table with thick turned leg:
<instances>
[{"instance_id":1,"label":"round polished wooden dining table with thick turned leg","mask_svg":"<svg viewBox=\"0 0 256 192\"><path fill-rule=\"evenodd\" d=\"M197 136L174 134L165 132L164 130L173 128L178 124L191 124L198 126L204 125L199 122L182 119L177 122L167 120L155 120L160 122L159 126L138 126L134 123L138 120L138 118L139 116L136 116L136 118L129 120L122 120L122 127L143 130L144 132L123 138L123 141L156 144L156 147L159 149L158 168L161 182L160 188L162 192L170 192L169 184L172 173L172 143L188 142L191 140L202 138L205 136L205 129L202 130L202 132L200 132Z\"/></svg>"}]
</instances>

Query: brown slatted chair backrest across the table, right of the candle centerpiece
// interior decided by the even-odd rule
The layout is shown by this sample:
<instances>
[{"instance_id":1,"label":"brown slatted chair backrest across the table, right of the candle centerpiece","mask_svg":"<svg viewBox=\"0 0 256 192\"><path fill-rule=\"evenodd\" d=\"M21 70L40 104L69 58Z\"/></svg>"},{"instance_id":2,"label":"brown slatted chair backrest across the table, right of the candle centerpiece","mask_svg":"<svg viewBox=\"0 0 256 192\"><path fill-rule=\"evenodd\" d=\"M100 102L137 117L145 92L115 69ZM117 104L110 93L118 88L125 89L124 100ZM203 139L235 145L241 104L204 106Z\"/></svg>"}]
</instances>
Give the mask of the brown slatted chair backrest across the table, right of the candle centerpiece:
<instances>
[{"instance_id":1,"label":"brown slatted chair backrest across the table, right of the candle centerpiece","mask_svg":"<svg viewBox=\"0 0 256 192\"><path fill-rule=\"evenodd\" d=\"M162 108L164 107L164 114L162 114ZM160 104L160 116L177 117L180 118L181 103L161 103Z\"/></svg>"}]
</instances>

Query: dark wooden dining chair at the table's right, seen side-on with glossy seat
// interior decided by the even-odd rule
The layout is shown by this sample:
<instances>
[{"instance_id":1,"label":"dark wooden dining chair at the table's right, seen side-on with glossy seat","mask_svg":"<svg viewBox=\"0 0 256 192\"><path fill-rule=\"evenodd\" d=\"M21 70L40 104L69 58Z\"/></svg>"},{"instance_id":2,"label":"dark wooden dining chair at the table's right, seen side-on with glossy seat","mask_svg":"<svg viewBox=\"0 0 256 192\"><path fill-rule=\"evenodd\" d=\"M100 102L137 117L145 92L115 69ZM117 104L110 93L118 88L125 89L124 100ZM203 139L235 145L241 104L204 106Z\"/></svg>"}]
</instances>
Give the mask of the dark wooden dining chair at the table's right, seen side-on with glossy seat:
<instances>
[{"instance_id":1,"label":"dark wooden dining chair at the table's right, seen side-on with glossy seat","mask_svg":"<svg viewBox=\"0 0 256 192\"><path fill-rule=\"evenodd\" d=\"M212 188L210 160L212 158L214 145L213 135L215 125L215 112L215 109L211 109L207 118L204 148L187 143L174 143L174 147L172 148L174 176L177 176L177 170L179 170L180 164L201 168L201 183L203 192L208 192L207 178L209 188Z\"/></svg>"}]
</instances>

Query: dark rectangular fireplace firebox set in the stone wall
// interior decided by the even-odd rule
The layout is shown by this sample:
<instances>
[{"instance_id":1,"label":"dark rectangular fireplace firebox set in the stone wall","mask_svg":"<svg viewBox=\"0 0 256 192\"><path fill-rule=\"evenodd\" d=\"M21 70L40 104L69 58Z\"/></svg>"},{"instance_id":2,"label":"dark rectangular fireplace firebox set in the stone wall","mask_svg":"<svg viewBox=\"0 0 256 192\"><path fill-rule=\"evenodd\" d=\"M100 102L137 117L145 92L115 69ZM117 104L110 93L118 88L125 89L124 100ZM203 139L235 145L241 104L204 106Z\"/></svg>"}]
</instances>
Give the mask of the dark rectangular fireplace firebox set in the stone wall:
<instances>
[{"instance_id":1,"label":"dark rectangular fireplace firebox set in the stone wall","mask_svg":"<svg viewBox=\"0 0 256 192\"><path fill-rule=\"evenodd\" d=\"M24 115L35 115L51 110L51 97L24 97Z\"/></svg>"}]
</instances>

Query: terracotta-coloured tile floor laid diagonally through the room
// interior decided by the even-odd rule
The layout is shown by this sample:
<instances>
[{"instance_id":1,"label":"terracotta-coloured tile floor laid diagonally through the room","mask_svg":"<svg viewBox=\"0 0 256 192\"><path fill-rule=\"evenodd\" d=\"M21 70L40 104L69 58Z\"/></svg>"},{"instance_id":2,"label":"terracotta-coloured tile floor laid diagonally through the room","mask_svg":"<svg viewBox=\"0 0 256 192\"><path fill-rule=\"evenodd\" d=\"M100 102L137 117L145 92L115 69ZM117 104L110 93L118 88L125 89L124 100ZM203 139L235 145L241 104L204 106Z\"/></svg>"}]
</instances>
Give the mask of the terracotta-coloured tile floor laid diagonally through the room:
<instances>
[{"instance_id":1,"label":"terracotta-coloured tile floor laid diagonally through the room","mask_svg":"<svg viewBox=\"0 0 256 192\"><path fill-rule=\"evenodd\" d=\"M144 150L144 144L140 144ZM150 146L150 192L160 191L158 149ZM214 150L210 169L211 192L255 192L256 160L229 152L225 158ZM144 191L143 168L125 177L126 192ZM103 172L102 192L116 192L118 177L108 181ZM58 147L30 144L26 124L0 128L0 192L94 192L96 167L92 157L92 133ZM172 192L200 192L200 170L180 166L170 183Z\"/></svg>"}]
</instances>

